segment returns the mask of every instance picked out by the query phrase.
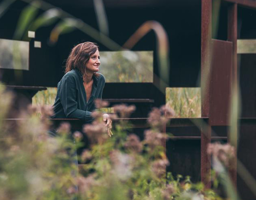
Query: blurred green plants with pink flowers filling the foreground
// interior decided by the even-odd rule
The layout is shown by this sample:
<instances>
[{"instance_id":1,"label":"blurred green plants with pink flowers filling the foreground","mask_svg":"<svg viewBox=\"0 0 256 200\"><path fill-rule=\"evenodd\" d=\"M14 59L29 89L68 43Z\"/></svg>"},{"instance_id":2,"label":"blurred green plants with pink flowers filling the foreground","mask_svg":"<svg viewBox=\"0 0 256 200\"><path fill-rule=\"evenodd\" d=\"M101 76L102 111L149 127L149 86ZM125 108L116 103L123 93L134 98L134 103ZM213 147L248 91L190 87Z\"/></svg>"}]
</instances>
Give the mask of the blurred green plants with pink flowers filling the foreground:
<instances>
[{"instance_id":1,"label":"blurred green plants with pink flowers filling the foreground","mask_svg":"<svg viewBox=\"0 0 256 200\"><path fill-rule=\"evenodd\" d=\"M80 156L83 165L75 164L75 146L81 146L80 132L70 137L70 126L61 124L56 137L48 135L52 111L49 107L30 107L15 123L9 123L12 95L0 96L0 199L217 199L202 183L193 184L189 177L174 178L167 173L169 161L163 143L168 135L161 133L173 111L154 108L144 140L127 134L132 125L125 120L115 123L114 135L106 133L102 114L93 113L95 121L83 130L90 146ZM5 101L9 99L8 101ZM4 109L5 108L5 109ZM117 105L116 115L127 117L134 106ZM41 117L36 114L40 110ZM78 190L77 190L78 187Z\"/></svg>"}]
</instances>

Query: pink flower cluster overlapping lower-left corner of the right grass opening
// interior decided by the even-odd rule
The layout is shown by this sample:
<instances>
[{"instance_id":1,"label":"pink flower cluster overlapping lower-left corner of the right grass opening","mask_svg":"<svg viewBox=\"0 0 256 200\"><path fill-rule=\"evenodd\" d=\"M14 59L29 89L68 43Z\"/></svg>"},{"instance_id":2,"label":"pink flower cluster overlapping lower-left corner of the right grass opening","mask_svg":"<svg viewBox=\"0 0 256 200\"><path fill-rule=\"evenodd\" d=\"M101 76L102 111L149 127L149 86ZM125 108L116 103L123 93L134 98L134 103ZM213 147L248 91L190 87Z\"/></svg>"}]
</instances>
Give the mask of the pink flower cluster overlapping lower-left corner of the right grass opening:
<instances>
[{"instance_id":1,"label":"pink flower cluster overlapping lower-left corner of the right grass opening","mask_svg":"<svg viewBox=\"0 0 256 200\"><path fill-rule=\"evenodd\" d=\"M147 122L152 128L161 130L163 126L175 115L173 109L162 106L160 109L154 107L148 115Z\"/></svg>"}]
</instances>

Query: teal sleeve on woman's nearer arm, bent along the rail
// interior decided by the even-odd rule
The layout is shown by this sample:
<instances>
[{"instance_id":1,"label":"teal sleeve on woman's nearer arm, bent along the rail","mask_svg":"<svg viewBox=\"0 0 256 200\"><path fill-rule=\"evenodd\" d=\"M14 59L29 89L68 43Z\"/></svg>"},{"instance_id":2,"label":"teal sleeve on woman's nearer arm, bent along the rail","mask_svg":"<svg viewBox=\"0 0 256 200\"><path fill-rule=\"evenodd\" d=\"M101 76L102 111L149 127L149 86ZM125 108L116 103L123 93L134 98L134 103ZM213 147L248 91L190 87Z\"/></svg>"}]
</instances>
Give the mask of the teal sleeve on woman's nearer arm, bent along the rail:
<instances>
[{"instance_id":1,"label":"teal sleeve on woman's nearer arm, bent along the rail","mask_svg":"<svg viewBox=\"0 0 256 200\"><path fill-rule=\"evenodd\" d=\"M77 108L76 92L77 86L75 78L66 76L62 78L60 85L60 102L67 118L78 118L85 121L92 121L90 111L84 111Z\"/></svg>"}]
</instances>

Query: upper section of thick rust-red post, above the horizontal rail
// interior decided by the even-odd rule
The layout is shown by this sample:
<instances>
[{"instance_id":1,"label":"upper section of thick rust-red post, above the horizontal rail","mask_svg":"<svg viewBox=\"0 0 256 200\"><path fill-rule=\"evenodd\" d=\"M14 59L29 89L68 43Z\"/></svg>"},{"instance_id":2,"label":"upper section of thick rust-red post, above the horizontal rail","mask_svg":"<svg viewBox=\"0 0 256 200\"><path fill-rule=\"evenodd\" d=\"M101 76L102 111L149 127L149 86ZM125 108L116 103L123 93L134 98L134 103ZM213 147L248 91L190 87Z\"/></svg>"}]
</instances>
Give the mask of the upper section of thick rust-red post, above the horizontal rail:
<instances>
[{"instance_id":1,"label":"upper section of thick rust-red post, above the horizontal rail","mask_svg":"<svg viewBox=\"0 0 256 200\"><path fill-rule=\"evenodd\" d=\"M211 10L212 1L201 1L201 116L209 116L209 75L211 61Z\"/></svg>"}]
</instances>

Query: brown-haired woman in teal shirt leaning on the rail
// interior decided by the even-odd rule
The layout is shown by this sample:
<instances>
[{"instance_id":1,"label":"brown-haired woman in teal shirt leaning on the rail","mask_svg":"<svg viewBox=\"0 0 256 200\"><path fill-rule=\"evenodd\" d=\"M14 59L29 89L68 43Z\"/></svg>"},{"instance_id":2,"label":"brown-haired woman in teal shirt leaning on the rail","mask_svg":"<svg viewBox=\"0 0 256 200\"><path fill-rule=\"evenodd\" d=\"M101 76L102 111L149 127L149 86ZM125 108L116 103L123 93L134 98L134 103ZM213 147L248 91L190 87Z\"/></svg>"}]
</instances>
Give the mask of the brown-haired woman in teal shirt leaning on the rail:
<instances>
[{"instance_id":1,"label":"brown-haired woman in teal shirt leaning on the rail","mask_svg":"<svg viewBox=\"0 0 256 200\"><path fill-rule=\"evenodd\" d=\"M66 62L65 75L58 83L52 118L78 118L86 123L93 121L94 100L101 99L105 78L98 73L100 66L99 47L85 42L76 45ZM111 136L111 119L103 114L108 134Z\"/></svg>"}]
</instances>

